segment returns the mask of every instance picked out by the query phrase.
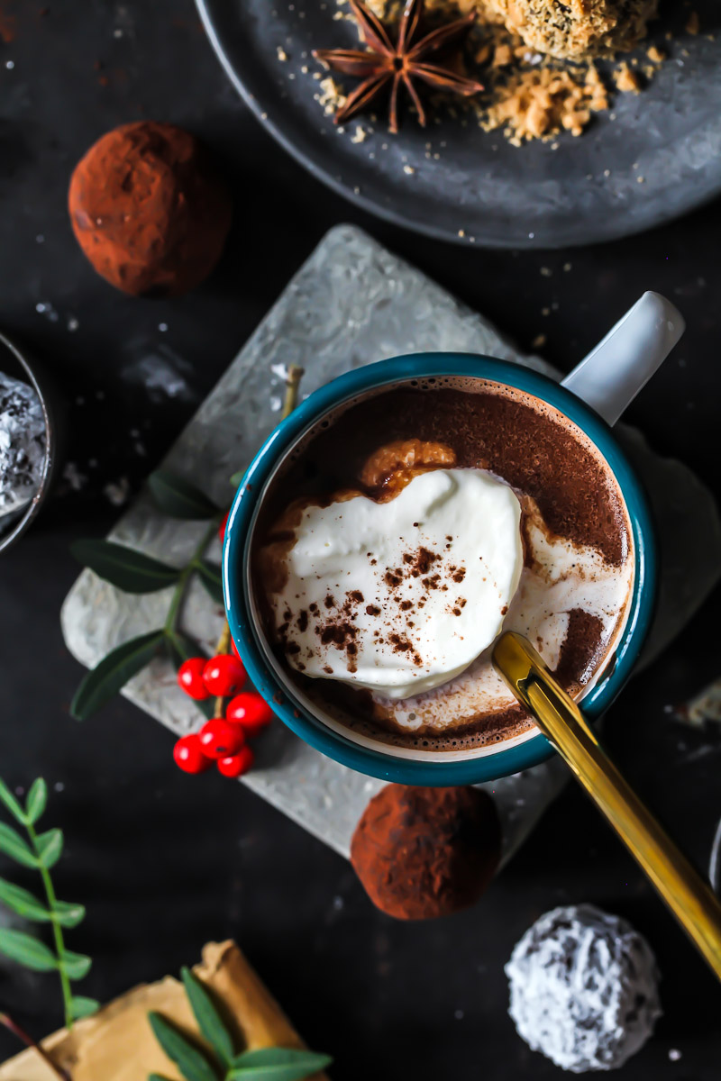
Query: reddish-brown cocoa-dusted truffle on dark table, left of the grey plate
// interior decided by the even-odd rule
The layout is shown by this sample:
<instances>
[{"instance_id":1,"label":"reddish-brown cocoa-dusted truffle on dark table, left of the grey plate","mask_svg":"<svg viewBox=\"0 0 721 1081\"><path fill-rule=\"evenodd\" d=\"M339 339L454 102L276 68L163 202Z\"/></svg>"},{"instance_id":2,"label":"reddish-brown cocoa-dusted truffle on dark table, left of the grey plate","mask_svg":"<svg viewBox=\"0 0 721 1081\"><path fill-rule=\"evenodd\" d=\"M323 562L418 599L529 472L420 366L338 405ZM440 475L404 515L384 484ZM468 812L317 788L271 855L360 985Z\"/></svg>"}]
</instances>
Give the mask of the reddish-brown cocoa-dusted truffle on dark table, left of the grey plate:
<instances>
[{"instance_id":1,"label":"reddish-brown cocoa-dusted truffle on dark table, left of the grey plate","mask_svg":"<svg viewBox=\"0 0 721 1081\"><path fill-rule=\"evenodd\" d=\"M231 202L210 152L173 124L123 124L76 165L78 243L103 278L136 296L177 296L217 263Z\"/></svg>"}]
</instances>

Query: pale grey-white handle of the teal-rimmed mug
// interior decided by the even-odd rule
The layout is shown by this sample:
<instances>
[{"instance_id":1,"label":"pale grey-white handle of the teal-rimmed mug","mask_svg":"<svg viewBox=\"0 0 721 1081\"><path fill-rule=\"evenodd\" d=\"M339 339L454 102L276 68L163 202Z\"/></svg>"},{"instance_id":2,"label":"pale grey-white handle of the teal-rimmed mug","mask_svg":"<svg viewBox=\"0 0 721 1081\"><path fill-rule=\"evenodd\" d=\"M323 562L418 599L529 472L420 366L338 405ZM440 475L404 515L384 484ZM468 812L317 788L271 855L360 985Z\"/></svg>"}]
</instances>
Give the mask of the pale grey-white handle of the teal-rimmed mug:
<instances>
[{"instance_id":1,"label":"pale grey-white handle of the teal-rimmed mug","mask_svg":"<svg viewBox=\"0 0 721 1081\"><path fill-rule=\"evenodd\" d=\"M685 330L660 293L644 293L561 383L614 425Z\"/></svg>"}]
</instances>

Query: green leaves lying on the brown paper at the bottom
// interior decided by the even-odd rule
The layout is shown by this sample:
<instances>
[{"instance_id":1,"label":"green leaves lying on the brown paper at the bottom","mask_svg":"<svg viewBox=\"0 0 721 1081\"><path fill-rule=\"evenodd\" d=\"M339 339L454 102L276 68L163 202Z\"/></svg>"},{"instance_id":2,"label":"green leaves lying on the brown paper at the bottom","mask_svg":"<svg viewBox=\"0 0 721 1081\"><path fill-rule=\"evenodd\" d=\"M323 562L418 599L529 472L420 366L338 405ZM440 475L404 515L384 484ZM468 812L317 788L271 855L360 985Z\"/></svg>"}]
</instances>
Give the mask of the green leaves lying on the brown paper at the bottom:
<instances>
[{"instance_id":1,"label":"green leaves lying on the brown paper at the bottom","mask_svg":"<svg viewBox=\"0 0 721 1081\"><path fill-rule=\"evenodd\" d=\"M329 1055L295 1047L236 1052L232 1037L206 988L189 969L183 969L181 974L190 1009L211 1052L189 1040L162 1014L153 1011L148 1020L158 1043L186 1081L303 1081L331 1065ZM151 1073L148 1081L165 1079Z\"/></svg>"}]
</instances>

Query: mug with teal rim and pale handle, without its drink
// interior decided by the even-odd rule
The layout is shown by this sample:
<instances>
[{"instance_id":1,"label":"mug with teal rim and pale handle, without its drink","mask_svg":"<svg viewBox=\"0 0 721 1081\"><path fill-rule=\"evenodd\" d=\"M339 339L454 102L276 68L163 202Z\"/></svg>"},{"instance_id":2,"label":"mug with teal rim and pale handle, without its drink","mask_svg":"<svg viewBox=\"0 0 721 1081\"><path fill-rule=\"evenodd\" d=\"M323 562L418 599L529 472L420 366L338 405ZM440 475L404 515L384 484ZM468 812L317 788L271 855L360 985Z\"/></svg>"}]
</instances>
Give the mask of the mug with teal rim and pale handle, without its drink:
<instances>
[{"instance_id":1,"label":"mug with teal rim and pale handle, without its drink","mask_svg":"<svg viewBox=\"0 0 721 1081\"><path fill-rule=\"evenodd\" d=\"M563 384L518 364L470 353L424 352L366 364L311 393L263 444L236 494L223 551L230 630L251 679L280 719L306 743L361 773L406 785L467 785L492 780L543 762L552 753L537 730L464 751L406 750L357 736L330 723L289 678L267 641L253 598L250 571L254 528L272 478L315 425L344 402L378 388L433 376L477 377L518 388L547 402L577 425L600 451L628 511L635 548L633 587L625 625L600 677L583 695L584 712L598 717L626 682L653 613L656 559L646 499L612 425L683 332L679 312L645 293Z\"/></svg>"}]
</instances>

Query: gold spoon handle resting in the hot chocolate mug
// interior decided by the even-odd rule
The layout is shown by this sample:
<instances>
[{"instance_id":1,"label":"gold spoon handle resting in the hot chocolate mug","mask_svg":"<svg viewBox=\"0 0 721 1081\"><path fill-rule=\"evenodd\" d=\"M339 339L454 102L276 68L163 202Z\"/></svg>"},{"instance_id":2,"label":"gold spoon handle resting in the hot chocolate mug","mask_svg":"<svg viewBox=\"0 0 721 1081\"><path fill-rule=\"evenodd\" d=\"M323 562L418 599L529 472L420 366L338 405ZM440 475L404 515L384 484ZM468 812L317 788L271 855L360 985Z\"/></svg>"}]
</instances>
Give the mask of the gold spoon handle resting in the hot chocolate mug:
<instances>
[{"instance_id":1,"label":"gold spoon handle resting in the hot chocolate mug","mask_svg":"<svg viewBox=\"0 0 721 1081\"><path fill-rule=\"evenodd\" d=\"M531 643L507 631L493 650L493 665L721 979L721 904L711 889L606 757L578 706Z\"/></svg>"}]
</instances>

